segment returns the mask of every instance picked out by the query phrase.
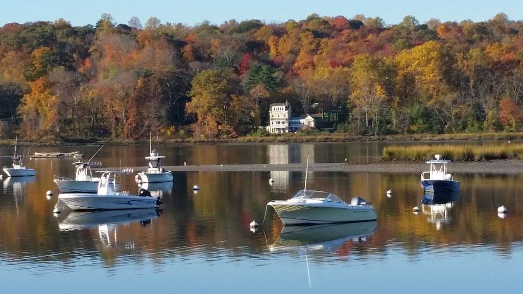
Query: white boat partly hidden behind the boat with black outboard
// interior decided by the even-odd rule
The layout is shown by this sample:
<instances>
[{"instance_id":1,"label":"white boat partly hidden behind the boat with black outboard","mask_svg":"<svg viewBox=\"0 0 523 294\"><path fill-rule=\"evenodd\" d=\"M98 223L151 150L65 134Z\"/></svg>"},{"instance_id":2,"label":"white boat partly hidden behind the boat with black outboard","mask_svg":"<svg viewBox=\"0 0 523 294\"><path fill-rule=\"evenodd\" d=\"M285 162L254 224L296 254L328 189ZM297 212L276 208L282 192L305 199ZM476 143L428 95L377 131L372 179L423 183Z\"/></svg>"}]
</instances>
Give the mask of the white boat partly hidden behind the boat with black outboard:
<instances>
[{"instance_id":1,"label":"white boat partly hidden behind the boat with black outboard","mask_svg":"<svg viewBox=\"0 0 523 294\"><path fill-rule=\"evenodd\" d=\"M76 167L74 179L66 177L55 177L53 182L56 183L61 193L96 193L98 191L99 177L93 177L91 167L100 167L101 163L82 162L73 163ZM112 185L112 183L110 183ZM120 184L116 183L115 189L118 190Z\"/></svg>"}]
</instances>

